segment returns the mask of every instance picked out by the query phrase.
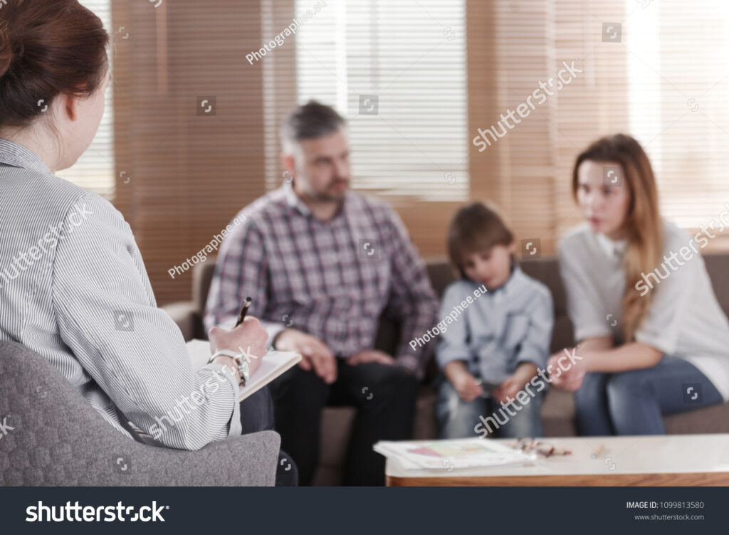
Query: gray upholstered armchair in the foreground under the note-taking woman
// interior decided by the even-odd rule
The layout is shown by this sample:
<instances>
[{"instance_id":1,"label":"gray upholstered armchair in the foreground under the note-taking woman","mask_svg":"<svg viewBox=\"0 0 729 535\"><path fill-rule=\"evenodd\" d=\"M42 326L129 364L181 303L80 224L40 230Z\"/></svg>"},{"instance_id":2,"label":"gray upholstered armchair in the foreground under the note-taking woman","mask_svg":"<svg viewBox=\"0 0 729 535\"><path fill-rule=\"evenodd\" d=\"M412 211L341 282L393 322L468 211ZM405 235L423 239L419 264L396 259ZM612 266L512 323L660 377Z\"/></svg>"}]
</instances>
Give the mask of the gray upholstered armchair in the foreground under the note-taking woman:
<instances>
[{"instance_id":1,"label":"gray upholstered armchair in the foreground under the note-taking woman","mask_svg":"<svg viewBox=\"0 0 729 535\"><path fill-rule=\"evenodd\" d=\"M198 451L141 444L42 356L0 341L0 486L270 486L280 442L262 431Z\"/></svg>"}]
</instances>

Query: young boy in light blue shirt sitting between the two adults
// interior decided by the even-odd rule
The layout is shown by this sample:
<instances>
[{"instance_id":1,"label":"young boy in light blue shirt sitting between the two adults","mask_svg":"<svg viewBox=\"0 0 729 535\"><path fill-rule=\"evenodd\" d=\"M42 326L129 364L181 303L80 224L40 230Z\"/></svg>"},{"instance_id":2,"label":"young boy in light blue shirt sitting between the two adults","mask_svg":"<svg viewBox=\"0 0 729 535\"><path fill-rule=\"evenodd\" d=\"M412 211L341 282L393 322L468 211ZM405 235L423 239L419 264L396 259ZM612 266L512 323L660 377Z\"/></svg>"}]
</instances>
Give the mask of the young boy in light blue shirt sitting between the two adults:
<instances>
[{"instance_id":1,"label":"young boy in light blue shirt sitting between the two adults","mask_svg":"<svg viewBox=\"0 0 729 535\"><path fill-rule=\"evenodd\" d=\"M440 309L441 318L454 319L436 352L440 438L543 434L544 383L529 382L550 355L553 301L519 268L515 250L494 208L471 203L451 223L448 254L461 279L445 290Z\"/></svg>"}]
</instances>

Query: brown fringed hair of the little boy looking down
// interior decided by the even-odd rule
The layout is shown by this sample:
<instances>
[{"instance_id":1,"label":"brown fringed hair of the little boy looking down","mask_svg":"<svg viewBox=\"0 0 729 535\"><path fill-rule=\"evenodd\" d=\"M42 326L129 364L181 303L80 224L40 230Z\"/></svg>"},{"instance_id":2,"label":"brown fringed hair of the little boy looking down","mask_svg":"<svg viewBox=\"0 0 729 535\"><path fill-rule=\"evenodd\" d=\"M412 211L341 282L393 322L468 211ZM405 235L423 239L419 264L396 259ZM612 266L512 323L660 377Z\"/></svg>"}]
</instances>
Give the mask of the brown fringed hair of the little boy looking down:
<instances>
[{"instance_id":1,"label":"brown fringed hair of the little boy looking down","mask_svg":"<svg viewBox=\"0 0 729 535\"><path fill-rule=\"evenodd\" d=\"M448 256L465 278L464 254L487 251L496 245L509 246L513 241L514 235L493 203L469 203L456 212L448 229Z\"/></svg>"}]
</instances>

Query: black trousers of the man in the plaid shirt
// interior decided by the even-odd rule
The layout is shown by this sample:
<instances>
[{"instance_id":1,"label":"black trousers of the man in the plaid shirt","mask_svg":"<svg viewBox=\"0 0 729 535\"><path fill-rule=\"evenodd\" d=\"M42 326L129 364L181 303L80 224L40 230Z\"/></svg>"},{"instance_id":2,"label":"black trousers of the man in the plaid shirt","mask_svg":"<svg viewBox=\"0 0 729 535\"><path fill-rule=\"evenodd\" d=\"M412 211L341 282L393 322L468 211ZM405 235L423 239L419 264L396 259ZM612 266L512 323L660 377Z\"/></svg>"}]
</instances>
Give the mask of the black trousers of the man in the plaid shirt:
<instances>
[{"instance_id":1,"label":"black trousers of the man in the plaid shirt","mask_svg":"<svg viewBox=\"0 0 729 535\"><path fill-rule=\"evenodd\" d=\"M300 485L311 485L319 461L321 410L356 407L354 431L344 466L345 485L383 485L385 459L372 449L378 440L413 437L418 381L396 365L368 362L350 366L337 359L337 380L324 383L316 372L293 367L270 384L281 449L299 469Z\"/></svg>"}]
</instances>

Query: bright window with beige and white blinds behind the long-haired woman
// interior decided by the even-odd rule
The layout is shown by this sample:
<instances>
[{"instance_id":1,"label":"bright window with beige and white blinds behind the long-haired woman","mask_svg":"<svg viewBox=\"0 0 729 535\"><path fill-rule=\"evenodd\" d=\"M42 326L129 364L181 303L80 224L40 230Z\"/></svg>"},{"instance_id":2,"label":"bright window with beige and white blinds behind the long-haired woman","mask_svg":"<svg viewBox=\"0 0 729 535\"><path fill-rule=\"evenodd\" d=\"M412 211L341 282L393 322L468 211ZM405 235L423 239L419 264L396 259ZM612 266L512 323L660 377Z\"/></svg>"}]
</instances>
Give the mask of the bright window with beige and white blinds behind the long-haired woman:
<instances>
[{"instance_id":1,"label":"bright window with beige and white blinds behind the long-haired woman","mask_svg":"<svg viewBox=\"0 0 729 535\"><path fill-rule=\"evenodd\" d=\"M519 238L541 238L542 254L555 251L582 221L570 189L575 157L618 132L634 136L650 157L666 219L688 230L718 219L729 201L724 1L494 0L469 13L469 28L472 20L493 21L493 33L491 47L468 50L490 73L483 90L470 82L479 90L469 94L469 113L487 110L475 117L471 136L496 125L499 113L515 110L565 63L580 69L521 124L472 155L472 168L495 170L494 200ZM469 71L469 78L477 75Z\"/></svg>"}]
</instances>

